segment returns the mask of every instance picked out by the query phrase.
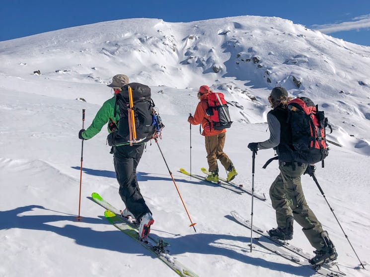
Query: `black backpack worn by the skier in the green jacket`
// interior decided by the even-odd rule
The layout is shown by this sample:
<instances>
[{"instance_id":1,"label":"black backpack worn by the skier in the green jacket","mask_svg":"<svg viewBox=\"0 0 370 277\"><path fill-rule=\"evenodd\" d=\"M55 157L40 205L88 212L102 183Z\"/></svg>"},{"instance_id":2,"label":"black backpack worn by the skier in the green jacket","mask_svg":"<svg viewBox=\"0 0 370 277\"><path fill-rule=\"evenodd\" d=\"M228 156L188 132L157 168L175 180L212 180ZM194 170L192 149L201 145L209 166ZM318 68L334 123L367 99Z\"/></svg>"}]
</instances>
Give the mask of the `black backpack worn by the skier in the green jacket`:
<instances>
[{"instance_id":1,"label":"black backpack worn by the skier in the green jacket","mask_svg":"<svg viewBox=\"0 0 370 277\"><path fill-rule=\"evenodd\" d=\"M130 138L130 131L132 129L131 122L129 122L129 112L131 115L129 87L131 87L133 97L132 110L135 117L136 139ZM154 109L155 105L151 99L150 88L140 83L130 83L121 89L116 94L114 109L114 116L116 116L116 106L118 105L120 111L119 127L117 132L112 132L108 135L108 144L110 146L124 143L137 145L152 139L156 132L160 134L164 125L159 114Z\"/></svg>"}]
</instances>

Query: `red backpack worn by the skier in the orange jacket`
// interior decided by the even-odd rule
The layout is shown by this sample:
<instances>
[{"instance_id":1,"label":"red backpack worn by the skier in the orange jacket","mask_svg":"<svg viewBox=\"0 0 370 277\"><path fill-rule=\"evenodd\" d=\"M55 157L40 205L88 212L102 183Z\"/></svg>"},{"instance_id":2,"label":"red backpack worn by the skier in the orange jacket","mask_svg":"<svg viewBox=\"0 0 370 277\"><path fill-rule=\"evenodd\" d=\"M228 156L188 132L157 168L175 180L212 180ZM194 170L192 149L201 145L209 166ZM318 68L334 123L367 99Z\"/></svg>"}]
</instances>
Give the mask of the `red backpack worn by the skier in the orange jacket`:
<instances>
[{"instance_id":1,"label":"red backpack worn by the skier in the orange jacket","mask_svg":"<svg viewBox=\"0 0 370 277\"><path fill-rule=\"evenodd\" d=\"M211 116L211 129L223 130L225 128L230 128L232 121L230 120L227 103L221 92L209 93L206 114Z\"/></svg>"}]
</instances>

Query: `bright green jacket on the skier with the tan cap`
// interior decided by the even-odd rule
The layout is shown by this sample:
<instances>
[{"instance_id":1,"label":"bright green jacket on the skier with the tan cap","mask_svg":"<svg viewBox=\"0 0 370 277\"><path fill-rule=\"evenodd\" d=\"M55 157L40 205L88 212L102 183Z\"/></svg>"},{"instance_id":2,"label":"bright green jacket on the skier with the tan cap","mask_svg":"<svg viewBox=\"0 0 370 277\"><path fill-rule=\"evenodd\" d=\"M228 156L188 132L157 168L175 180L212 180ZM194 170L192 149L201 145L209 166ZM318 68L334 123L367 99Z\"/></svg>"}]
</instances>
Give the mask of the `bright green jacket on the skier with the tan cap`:
<instances>
[{"instance_id":1,"label":"bright green jacket on the skier with the tan cap","mask_svg":"<svg viewBox=\"0 0 370 277\"><path fill-rule=\"evenodd\" d=\"M86 131L81 133L84 139L90 139L97 133L99 133L101 128L103 128L103 126L108 123L109 118L114 119L114 121L117 124L117 127L119 127L118 121L120 119L120 109L117 105L116 116L114 116L115 104L116 96L113 96L111 99L108 99L107 101L104 102L103 106L101 106L99 111L96 113L94 120L92 120L91 125L86 129ZM111 130L109 130L109 126L108 133L111 133Z\"/></svg>"}]
</instances>

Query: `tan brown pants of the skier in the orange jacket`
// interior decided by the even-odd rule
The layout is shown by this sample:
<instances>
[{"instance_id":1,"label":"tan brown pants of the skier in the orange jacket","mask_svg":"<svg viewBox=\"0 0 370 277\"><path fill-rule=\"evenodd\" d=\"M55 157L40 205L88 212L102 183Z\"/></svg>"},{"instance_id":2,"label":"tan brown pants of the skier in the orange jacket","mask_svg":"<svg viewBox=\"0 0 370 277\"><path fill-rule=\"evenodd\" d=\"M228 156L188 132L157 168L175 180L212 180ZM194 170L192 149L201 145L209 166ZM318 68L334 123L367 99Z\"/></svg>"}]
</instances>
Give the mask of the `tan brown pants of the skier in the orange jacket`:
<instances>
[{"instance_id":1,"label":"tan brown pants of the skier in the orange jacket","mask_svg":"<svg viewBox=\"0 0 370 277\"><path fill-rule=\"evenodd\" d=\"M209 171L219 169L219 166L217 165L217 160L220 160L222 166L225 167L226 170L231 165L230 159L223 152L225 137L226 132L214 136L205 137Z\"/></svg>"}]
</instances>

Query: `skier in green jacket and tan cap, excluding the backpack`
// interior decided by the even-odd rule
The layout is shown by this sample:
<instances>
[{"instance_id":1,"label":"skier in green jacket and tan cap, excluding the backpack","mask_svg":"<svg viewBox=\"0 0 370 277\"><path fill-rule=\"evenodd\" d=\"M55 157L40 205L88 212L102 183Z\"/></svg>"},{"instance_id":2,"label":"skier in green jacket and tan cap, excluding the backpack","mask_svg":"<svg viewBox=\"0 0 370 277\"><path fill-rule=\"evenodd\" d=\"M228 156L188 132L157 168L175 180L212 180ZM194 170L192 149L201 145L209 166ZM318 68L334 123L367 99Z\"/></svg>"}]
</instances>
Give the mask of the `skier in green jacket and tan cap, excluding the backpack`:
<instances>
[{"instance_id":1,"label":"skier in green jacket and tan cap, excluding the backpack","mask_svg":"<svg viewBox=\"0 0 370 277\"><path fill-rule=\"evenodd\" d=\"M104 102L103 106L96 113L91 125L86 129L81 129L78 133L79 139L90 139L100 132L101 128L108 123L108 133L114 132L119 128L120 111L116 105L116 94L121 88L129 84L129 78L124 74L115 75L112 83L108 87L113 88L115 95ZM116 112L114 109L116 108ZM116 116L114 116L116 114ZM140 222L139 235L142 240L146 240L150 232L150 225L154 223L151 212L145 203L140 192L136 167L143 155L144 144L134 144L129 142L113 146L113 160L116 171L117 181L120 185L119 194L126 205L122 216L132 218Z\"/></svg>"}]
</instances>

